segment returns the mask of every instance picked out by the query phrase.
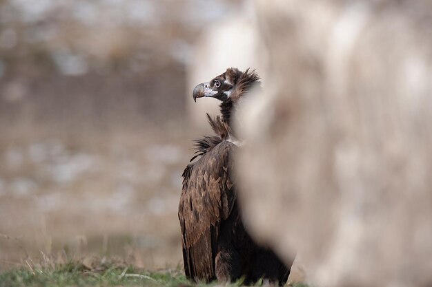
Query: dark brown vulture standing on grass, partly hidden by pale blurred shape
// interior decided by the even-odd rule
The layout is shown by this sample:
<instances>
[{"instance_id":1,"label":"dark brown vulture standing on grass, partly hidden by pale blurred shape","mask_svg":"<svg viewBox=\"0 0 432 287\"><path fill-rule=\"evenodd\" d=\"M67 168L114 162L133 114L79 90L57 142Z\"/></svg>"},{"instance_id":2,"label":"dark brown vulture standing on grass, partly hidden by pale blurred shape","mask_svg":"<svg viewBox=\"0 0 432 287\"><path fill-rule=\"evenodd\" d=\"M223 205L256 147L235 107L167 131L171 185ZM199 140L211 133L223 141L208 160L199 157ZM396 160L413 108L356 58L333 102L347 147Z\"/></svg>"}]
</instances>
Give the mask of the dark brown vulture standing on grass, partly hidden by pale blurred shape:
<instances>
[{"instance_id":1,"label":"dark brown vulture standing on grass, partly hidden by pale blurred shape","mask_svg":"<svg viewBox=\"0 0 432 287\"><path fill-rule=\"evenodd\" d=\"M209 282L283 286L291 270L268 248L249 235L237 201L235 109L260 87L255 70L226 72L193 89L193 100L203 97L221 101L220 115L208 122L215 135L195 140L195 156L182 174L179 222L184 271L188 279Z\"/></svg>"}]
</instances>

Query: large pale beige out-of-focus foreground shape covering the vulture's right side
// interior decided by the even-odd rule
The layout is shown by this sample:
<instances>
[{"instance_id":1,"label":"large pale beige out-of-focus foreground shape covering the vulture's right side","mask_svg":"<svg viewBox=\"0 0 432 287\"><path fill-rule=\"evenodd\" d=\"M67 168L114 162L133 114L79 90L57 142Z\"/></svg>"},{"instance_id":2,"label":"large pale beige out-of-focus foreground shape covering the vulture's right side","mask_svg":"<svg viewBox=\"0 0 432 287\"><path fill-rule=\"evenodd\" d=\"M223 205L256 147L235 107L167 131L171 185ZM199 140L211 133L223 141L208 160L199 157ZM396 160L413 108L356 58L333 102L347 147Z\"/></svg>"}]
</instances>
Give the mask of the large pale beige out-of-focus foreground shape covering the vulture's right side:
<instances>
[{"instance_id":1,"label":"large pale beige out-of-focus foreground shape covering the vulture's right side","mask_svg":"<svg viewBox=\"0 0 432 287\"><path fill-rule=\"evenodd\" d=\"M269 65L237 169L253 235L317 286L431 286L432 2L255 6Z\"/></svg>"}]
</instances>

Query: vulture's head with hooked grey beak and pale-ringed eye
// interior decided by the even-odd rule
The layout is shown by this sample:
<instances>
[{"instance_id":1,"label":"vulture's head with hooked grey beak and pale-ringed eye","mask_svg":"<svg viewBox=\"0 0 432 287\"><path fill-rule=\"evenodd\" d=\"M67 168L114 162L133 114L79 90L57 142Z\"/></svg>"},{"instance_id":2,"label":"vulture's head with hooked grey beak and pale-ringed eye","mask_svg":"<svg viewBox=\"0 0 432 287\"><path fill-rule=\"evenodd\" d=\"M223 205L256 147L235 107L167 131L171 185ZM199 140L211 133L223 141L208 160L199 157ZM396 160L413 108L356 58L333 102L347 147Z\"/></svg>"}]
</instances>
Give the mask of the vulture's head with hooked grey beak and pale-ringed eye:
<instances>
[{"instance_id":1,"label":"vulture's head with hooked grey beak and pale-ringed eye","mask_svg":"<svg viewBox=\"0 0 432 287\"><path fill-rule=\"evenodd\" d=\"M210 82L201 83L193 89L193 100L209 96L218 100L226 100L230 97L235 89L238 79L242 76L237 68L229 67L224 74L213 78Z\"/></svg>"}]
</instances>

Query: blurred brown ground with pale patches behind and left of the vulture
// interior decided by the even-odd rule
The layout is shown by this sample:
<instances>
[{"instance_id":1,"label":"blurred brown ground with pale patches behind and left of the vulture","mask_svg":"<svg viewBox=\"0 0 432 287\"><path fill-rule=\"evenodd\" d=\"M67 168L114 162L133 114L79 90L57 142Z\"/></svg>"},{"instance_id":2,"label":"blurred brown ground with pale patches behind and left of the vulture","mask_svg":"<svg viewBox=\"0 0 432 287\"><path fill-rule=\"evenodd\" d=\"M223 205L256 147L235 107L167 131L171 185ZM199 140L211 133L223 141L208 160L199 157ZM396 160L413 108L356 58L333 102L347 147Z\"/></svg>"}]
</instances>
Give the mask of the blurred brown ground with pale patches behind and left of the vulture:
<instances>
[{"instance_id":1,"label":"blurred brown ground with pale patches behind and left of the vulture","mask_svg":"<svg viewBox=\"0 0 432 287\"><path fill-rule=\"evenodd\" d=\"M0 1L0 268L41 253L182 266L181 172L202 134L187 71L199 35L245 9Z\"/></svg>"}]
</instances>

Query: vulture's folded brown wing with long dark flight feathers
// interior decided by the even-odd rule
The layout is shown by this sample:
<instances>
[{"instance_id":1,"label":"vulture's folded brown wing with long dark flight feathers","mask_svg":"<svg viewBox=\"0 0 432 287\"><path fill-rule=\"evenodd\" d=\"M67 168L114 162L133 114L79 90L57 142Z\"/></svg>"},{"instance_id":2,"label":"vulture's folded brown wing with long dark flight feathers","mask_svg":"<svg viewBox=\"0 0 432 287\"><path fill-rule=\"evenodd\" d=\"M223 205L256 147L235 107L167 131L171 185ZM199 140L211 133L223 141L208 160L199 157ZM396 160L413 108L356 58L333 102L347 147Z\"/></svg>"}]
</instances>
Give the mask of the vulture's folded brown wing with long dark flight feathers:
<instances>
[{"instance_id":1,"label":"vulture's folded brown wing with long dark flight feathers","mask_svg":"<svg viewBox=\"0 0 432 287\"><path fill-rule=\"evenodd\" d=\"M215 279L215 256L219 226L235 202L231 142L220 142L183 175L179 202L184 268L196 281Z\"/></svg>"}]
</instances>

